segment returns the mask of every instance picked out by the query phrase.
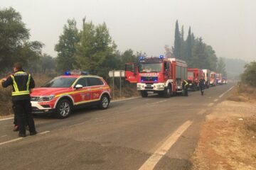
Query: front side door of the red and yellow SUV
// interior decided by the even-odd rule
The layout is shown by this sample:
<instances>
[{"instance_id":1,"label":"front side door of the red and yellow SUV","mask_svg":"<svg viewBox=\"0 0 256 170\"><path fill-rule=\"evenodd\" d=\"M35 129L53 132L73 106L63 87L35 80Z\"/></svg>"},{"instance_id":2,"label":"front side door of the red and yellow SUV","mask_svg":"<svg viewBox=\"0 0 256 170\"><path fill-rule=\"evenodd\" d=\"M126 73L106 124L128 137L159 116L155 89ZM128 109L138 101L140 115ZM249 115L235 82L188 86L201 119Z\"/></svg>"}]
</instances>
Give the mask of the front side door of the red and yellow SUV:
<instances>
[{"instance_id":1,"label":"front side door of the red and yellow SUV","mask_svg":"<svg viewBox=\"0 0 256 170\"><path fill-rule=\"evenodd\" d=\"M82 88L74 89L75 104L78 105L78 104L90 102L91 91L90 91L90 87L87 85L87 79L85 77L80 78L75 84L75 86L78 84L82 85Z\"/></svg>"}]
</instances>

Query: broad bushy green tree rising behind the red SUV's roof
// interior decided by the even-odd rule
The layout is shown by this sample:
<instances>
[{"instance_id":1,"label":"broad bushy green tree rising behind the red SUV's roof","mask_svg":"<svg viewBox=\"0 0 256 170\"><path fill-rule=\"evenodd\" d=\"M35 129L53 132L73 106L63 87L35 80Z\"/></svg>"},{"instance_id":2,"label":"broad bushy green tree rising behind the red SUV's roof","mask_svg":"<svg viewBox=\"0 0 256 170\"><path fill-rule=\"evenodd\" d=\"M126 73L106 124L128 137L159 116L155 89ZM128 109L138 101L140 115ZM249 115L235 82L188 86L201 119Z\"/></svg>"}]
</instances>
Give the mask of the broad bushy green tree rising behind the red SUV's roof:
<instances>
[{"instance_id":1,"label":"broad bushy green tree rising behind the red SUV's roof","mask_svg":"<svg viewBox=\"0 0 256 170\"><path fill-rule=\"evenodd\" d=\"M107 60L114 57L116 47L105 23L95 26L92 22L84 21L81 40L76 46L77 67L92 74L106 76L110 67L106 65Z\"/></svg>"}]
</instances>

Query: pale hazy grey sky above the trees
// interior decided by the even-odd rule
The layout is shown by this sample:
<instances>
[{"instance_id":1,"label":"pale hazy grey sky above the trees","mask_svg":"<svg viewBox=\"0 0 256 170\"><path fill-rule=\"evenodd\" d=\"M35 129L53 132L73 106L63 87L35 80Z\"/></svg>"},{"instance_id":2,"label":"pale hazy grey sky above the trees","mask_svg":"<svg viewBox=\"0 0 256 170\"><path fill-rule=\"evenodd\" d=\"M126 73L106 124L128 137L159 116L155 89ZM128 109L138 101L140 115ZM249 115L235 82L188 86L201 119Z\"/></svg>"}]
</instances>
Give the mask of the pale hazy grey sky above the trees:
<instances>
[{"instance_id":1,"label":"pale hazy grey sky above the trees","mask_svg":"<svg viewBox=\"0 0 256 170\"><path fill-rule=\"evenodd\" d=\"M256 60L256 0L1 0L31 31L31 40L57 55L54 45L68 18L105 21L120 51L131 48L159 56L174 45L175 22L212 45L218 57Z\"/></svg>"}]
</instances>

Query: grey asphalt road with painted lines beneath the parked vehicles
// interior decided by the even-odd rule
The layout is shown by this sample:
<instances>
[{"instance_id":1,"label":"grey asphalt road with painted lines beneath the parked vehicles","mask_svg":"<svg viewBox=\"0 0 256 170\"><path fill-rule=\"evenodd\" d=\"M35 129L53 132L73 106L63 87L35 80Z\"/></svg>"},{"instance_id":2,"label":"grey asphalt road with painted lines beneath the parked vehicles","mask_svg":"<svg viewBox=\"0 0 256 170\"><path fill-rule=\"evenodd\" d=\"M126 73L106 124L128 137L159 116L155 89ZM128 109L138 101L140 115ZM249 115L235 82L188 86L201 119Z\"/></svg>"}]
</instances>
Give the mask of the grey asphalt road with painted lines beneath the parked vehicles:
<instances>
[{"instance_id":1,"label":"grey asphalt road with painted lines beneath the parked vehicles","mask_svg":"<svg viewBox=\"0 0 256 170\"><path fill-rule=\"evenodd\" d=\"M0 169L190 169L200 124L231 86L115 101L65 120L36 116L39 134L25 138L0 120Z\"/></svg>"}]
</instances>

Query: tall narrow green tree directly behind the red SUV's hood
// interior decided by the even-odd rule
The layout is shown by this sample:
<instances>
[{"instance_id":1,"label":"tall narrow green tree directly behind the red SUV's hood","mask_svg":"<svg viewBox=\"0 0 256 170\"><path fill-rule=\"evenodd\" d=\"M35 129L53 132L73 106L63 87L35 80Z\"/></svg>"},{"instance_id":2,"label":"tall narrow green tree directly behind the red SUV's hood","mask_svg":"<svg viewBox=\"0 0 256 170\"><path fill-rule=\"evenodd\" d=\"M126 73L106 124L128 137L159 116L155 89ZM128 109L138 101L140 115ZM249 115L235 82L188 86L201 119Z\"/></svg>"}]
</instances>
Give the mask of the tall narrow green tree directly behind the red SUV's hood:
<instances>
[{"instance_id":1,"label":"tall narrow green tree directly behind the red SUV's hood","mask_svg":"<svg viewBox=\"0 0 256 170\"><path fill-rule=\"evenodd\" d=\"M58 71L73 69L75 62L75 45L80 41L78 28L75 19L68 19L68 23L63 27L63 34L60 35L55 51L58 52L56 59Z\"/></svg>"}]
</instances>

